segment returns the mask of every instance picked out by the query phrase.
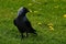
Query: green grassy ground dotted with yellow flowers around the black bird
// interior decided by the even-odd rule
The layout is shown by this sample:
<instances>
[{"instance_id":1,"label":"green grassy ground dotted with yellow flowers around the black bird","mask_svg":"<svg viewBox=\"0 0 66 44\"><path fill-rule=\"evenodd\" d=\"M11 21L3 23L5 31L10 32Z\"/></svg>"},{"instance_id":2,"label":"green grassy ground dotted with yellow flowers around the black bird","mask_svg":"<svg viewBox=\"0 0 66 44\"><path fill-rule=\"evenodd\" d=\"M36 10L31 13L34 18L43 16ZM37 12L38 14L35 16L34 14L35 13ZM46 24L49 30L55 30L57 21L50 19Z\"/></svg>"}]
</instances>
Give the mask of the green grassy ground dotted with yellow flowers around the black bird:
<instances>
[{"instance_id":1,"label":"green grassy ground dotted with yellow flowers around the black bird","mask_svg":"<svg viewBox=\"0 0 66 44\"><path fill-rule=\"evenodd\" d=\"M13 19L20 7L31 10L28 19L37 31L21 41ZM0 0L0 44L66 44L66 0Z\"/></svg>"}]
</instances>

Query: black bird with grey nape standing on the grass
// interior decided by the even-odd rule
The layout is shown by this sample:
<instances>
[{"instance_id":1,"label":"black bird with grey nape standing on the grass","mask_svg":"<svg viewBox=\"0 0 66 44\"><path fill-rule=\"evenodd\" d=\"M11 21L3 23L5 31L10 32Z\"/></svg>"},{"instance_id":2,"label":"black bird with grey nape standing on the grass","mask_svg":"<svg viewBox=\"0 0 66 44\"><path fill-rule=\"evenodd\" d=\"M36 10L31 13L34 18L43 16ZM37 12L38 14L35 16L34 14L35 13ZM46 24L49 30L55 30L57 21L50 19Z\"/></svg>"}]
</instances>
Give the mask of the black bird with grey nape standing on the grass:
<instances>
[{"instance_id":1,"label":"black bird with grey nape standing on the grass","mask_svg":"<svg viewBox=\"0 0 66 44\"><path fill-rule=\"evenodd\" d=\"M29 33L36 35L36 31L32 28L30 21L26 18L28 12L30 11L26 8L20 8L18 11L18 16L13 21L22 37L24 37L23 33L26 33L26 36L29 36Z\"/></svg>"}]
</instances>

